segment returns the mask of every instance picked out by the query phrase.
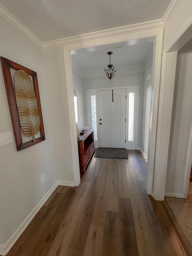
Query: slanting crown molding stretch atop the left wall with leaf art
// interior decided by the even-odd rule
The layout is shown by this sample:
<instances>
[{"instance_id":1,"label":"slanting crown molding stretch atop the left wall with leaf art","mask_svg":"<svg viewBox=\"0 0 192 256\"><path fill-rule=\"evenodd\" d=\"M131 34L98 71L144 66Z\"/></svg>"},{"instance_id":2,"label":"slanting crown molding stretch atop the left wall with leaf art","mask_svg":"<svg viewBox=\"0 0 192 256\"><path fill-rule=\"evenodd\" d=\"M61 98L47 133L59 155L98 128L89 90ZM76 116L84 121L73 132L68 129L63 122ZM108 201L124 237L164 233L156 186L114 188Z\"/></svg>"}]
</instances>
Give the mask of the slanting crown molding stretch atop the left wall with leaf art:
<instances>
[{"instance_id":1,"label":"slanting crown molding stretch atop the left wall with leaf art","mask_svg":"<svg viewBox=\"0 0 192 256\"><path fill-rule=\"evenodd\" d=\"M8 23L10 23L13 27L15 27L17 30L19 30L19 32L21 32L23 35L29 38L29 40L31 40L34 44L43 49L43 42L1 4L0 16Z\"/></svg>"}]
</instances>

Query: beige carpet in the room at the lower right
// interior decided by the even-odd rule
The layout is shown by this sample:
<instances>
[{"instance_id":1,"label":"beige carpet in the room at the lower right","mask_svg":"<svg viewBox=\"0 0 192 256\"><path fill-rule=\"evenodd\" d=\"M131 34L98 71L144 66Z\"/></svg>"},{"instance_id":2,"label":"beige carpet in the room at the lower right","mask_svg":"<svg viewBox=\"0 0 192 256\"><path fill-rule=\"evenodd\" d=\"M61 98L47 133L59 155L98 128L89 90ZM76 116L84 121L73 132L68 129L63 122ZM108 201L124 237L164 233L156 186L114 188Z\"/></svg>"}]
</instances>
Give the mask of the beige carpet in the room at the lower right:
<instances>
[{"instance_id":1,"label":"beige carpet in the room at the lower right","mask_svg":"<svg viewBox=\"0 0 192 256\"><path fill-rule=\"evenodd\" d=\"M187 240L192 246L192 194L187 199L165 197Z\"/></svg>"}]
</instances>

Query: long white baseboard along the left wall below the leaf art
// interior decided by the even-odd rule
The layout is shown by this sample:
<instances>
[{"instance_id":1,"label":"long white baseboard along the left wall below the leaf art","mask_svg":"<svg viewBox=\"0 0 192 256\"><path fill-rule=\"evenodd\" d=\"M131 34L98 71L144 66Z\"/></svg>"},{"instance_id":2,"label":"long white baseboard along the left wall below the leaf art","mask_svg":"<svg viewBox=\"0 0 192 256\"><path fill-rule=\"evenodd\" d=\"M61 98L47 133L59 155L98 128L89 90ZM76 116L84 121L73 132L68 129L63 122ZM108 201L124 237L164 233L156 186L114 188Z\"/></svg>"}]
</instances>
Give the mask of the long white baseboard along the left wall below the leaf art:
<instances>
[{"instance_id":1,"label":"long white baseboard along the left wall below the leaf art","mask_svg":"<svg viewBox=\"0 0 192 256\"><path fill-rule=\"evenodd\" d=\"M32 219L35 217L35 215L38 213L38 211L41 209L41 207L44 205L46 200L50 197L52 192L57 188L58 181L55 182L55 184L49 189L49 191L44 195L44 197L39 201L39 203L35 206L35 208L29 213L29 215L24 219L24 221L19 225L17 230L13 233L13 235L8 239L8 241L2 245L0 244L0 254L6 255L10 248L14 245L16 240L19 238L19 236L23 233L23 231L26 229L26 227L29 225L29 223L32 221Z\"/></svg>"}]
</instances>

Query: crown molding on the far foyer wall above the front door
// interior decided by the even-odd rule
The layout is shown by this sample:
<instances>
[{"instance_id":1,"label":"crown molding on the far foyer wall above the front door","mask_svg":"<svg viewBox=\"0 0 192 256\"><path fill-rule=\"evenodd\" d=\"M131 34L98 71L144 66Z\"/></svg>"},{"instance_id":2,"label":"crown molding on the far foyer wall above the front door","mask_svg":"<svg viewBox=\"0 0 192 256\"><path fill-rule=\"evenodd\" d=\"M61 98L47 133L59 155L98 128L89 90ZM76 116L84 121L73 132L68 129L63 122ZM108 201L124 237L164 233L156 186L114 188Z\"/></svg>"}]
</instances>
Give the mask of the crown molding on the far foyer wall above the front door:
<instances>
[{"instance_id":1,"label":"crown molding on the far foyer wall above the front door","mask_svg":"<svg viewBox=\"0 0 192 256\"><path fill-rule=\"evenodd\" d=\"M143 64L117 68L116 75L144 72ZM84 71L82 78L106 76L104 69Z\"/></svg>"}]
</instances>

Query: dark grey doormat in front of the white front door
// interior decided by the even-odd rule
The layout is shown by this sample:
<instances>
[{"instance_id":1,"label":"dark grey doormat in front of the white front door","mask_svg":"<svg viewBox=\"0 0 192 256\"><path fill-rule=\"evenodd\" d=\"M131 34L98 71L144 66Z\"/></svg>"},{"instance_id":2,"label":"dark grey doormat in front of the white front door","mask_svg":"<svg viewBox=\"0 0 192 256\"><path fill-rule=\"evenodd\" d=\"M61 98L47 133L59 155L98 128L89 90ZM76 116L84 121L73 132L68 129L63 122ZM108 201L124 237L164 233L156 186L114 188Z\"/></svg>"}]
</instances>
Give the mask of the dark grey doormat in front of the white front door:
<instances>
[{"instance_id":1,"label":"dark grey doormat in front of the white front door","mask_svg":"<svg viewBox=\"0 0 192 256\"><path fill-rule=\"evenodd\" d=\"M98 148L95 157L128 159L126 149Z\"/></svg>"}]
</instances>

